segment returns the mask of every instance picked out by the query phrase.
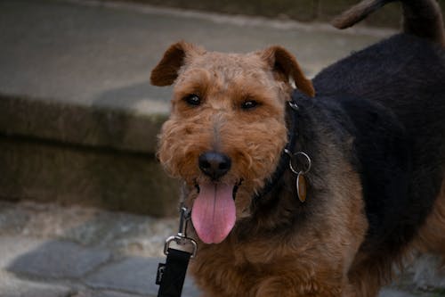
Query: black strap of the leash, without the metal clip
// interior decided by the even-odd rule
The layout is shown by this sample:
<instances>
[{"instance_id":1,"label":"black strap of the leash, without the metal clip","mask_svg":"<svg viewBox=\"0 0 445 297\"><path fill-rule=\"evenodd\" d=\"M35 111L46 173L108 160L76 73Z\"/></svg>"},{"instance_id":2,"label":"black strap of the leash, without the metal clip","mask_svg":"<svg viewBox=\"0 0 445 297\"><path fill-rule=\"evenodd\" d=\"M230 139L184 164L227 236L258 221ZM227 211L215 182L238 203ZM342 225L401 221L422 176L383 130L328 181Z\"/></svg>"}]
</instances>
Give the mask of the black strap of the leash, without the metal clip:
<instances>
[{"instance_id":1,"label":"black strap of the leash, without the metal clip","mask_svg":"<svg viewBox=\"0 0 445 297\"><path fill-rule=\"evenodd\" d=\"M190 252L169 248L166 264L159 264L156 284L159 285L158 297L179 297L189 266Z\"/></svg>"}]
</instances>

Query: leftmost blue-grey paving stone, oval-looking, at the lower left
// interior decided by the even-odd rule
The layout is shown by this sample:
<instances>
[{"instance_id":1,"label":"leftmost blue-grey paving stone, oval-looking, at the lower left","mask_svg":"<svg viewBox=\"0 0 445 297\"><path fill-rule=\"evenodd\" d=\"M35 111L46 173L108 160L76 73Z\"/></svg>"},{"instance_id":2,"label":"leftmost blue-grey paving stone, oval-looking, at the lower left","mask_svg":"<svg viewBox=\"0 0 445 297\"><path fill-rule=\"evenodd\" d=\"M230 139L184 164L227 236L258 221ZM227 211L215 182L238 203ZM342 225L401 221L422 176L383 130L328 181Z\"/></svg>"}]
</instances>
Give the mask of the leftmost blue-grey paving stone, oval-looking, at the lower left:
<instances>
[{"instance_id":1,"label":"leftmost blue-grey paving stone, oval-looking, at the lower left","mask_svg":"<svg viewBox=\"0 0 445 297\"><path fill-rule=\"evenodd\" d=\"M86 249L77 243L51 241L12 261L8 270L51 278L78 278L109 260L107 250Z\"/></svg>"}]
</instances>

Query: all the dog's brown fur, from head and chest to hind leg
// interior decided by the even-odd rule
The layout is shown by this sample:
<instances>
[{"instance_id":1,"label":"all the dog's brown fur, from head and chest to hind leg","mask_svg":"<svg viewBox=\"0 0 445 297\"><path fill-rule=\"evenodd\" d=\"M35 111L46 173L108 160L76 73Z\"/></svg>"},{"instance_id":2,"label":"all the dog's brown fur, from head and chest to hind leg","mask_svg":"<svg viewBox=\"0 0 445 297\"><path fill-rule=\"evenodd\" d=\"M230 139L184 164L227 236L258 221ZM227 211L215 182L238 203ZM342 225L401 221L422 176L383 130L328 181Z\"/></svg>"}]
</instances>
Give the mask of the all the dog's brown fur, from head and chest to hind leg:
<instances>
[{"instance_id":1,"label":"all the dog's brown fur, from head and chest to hind leg","mask_svg":"<svg viewBox=\"0 0 445 297\"><path fill-rule=\"evenodd\" d=\"M282 191L279 204L270 194L253 207L253 197L271 178L288 141L289 80L303 94L315 95L292 54L279 46L222 54L179 42L167 49L150 80L156 86L174 84L158 158L173 177L185 181L186 205L192 209L197 185L210 181L198 166L202 153L229 156L231 169L217 182L240 185L236 224L222 243L203 243L190 228L198 241L190 272L204 296L376 296L391 279L394 260L409 251L388 260L361 250L368 219L360 175L352 168L352 140L338 144L332 131L313 123L319 146L307 149L323 153L311 156L310 201L297 205L293 191ZM186 100L190 95L200 99L197 106ZM241 108L249 100L258 106ZM281 180L295 183L288 171ZM311 218L298 221L305 205L311 207ZM412 247L445 255L444 227L445 181Z\"/></svg>"}]
</instances>

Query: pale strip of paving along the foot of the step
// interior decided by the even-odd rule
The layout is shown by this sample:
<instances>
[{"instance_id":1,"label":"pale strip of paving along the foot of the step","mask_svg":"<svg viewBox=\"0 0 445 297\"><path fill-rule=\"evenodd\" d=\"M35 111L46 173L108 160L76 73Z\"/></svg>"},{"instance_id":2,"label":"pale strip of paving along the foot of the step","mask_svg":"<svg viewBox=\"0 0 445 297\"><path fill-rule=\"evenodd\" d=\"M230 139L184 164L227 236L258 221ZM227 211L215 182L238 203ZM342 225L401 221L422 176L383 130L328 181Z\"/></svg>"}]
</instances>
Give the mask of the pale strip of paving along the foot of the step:
<instances>
[{"instance_id":1,"label":"pale strip of paving along the foot of the step","mask_svg":"<svg viewBox=\"0 0 445 297\"><path fill-rule=\"evenodd\" d=\"M113 254L163 257L165 240L177 232L178 219L177 210L174 218L155 219L55 203L0 201L0 268L14 255L54 238L104 247ZM4 256L6 252L11 255Z\"/></svg>"}]
</instances>

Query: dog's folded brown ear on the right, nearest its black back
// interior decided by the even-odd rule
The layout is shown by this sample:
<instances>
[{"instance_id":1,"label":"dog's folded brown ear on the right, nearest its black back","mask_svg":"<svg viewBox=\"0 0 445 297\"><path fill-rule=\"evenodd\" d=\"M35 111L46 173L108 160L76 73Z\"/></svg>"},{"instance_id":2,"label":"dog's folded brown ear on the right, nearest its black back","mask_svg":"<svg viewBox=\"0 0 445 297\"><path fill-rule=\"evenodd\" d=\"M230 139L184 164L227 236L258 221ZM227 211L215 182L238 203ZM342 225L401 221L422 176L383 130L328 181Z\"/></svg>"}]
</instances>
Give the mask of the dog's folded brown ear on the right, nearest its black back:
<instances>
[{"instance_id":1,"label":"dog's folded brown ear on the right, nearest its black back","mask_svg":"<svg viewBox=\"0 0 445 297\"><path fill-rule=\"evenodd\" d=\"M306 78L295 57L281 46L271 46L261 53L262 58L271 65L273 71L286 82L294 79L295 86L304 94L313 97L315 90L312 81Z\"/></svg>"}]
</instances>

